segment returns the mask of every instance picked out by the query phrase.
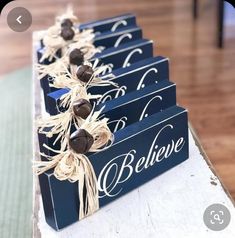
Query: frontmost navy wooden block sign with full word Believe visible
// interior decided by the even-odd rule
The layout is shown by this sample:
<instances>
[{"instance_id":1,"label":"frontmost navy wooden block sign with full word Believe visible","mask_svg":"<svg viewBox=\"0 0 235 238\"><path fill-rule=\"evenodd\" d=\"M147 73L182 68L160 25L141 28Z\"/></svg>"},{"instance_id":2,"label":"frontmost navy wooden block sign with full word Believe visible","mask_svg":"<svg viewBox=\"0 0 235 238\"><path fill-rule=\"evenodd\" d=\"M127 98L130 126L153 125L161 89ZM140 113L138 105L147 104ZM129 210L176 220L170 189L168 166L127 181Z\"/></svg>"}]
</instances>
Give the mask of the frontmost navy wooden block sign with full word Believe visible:
<instances>
[{"instance_id":1,"label":"frontmost navy wooden block sign with full word Believe visible","mask_svg":"<svg viewBox=\"0 0 235 238\"><path fill-rule=\"evenodd\" d=\"M188 158L187 111L178 106L114 135L110 148L88 155L98 178L100 207ZM78 183L57 180L53 170L39 180L47 223L59 230L78 221Z\"/></svg>"}]
</instances>

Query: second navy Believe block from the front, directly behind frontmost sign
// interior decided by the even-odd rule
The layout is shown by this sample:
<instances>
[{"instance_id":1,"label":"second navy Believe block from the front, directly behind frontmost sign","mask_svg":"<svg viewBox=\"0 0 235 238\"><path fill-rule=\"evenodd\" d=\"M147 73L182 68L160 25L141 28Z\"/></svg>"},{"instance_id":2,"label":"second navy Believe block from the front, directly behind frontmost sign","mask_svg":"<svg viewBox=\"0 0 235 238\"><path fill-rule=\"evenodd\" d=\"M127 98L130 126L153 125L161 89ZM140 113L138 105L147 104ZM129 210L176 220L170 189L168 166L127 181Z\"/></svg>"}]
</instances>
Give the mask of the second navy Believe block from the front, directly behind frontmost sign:
<instances>
[{"instance_id":1,"label":"second navy Believe block from the front, directly behind frontmost sign","mask_svg":"<svg viewBox=\"0 0 235 238\"><path fill-rule=\"evenodd\" d=\"M133 91L123 97L99 104L96 110L100 110L104 105L105 108L102 114L109 118L108 126L110 129L117 131L154 113L176 105L176 85L168 80L164 80L142 90ZM41 145L40 151L44 154L54 155L53 152L44 148L43 144L47 144L49 147L57 150L60 149L59 141L54 144L56 136L48 138L44 134L39 133L38 138ZM41 159L46 160L44 156L41 156Z\"/></svg>"}]
</instances>

